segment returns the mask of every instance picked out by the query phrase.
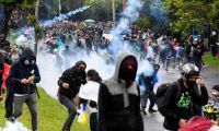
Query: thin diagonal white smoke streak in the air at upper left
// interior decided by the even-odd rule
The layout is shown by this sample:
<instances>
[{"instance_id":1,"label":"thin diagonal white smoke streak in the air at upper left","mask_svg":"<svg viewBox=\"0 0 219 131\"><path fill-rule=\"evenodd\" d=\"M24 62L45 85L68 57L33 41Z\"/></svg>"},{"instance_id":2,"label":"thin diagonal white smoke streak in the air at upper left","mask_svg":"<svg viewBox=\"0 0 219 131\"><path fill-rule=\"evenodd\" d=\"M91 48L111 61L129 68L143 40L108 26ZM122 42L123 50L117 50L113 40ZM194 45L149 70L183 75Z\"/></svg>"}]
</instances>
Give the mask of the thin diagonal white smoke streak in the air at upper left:
<instances>
[{"instance_id":1,"label":"thin diagonal white smoke streak in the air at upper left","mask_svg":"<svg viewBox=\"0 0 219 131\"><path fill-rule=\"evenodd\" d=\"M90 5L89 5L89 7L79 8L79 9L77 9L77 10L74 10L74 11L70 11L70 12L68 12L67 14L60 14L59 16L56 16L56 17L54 17L53 20L48 20L48 21L43 22L42 25L43 25L44 27L46 27L46 26L51 26L53 23L55 23L55 22L57 22L57 21L67 20L69 16L71 16L71 15L73 15L73 14L77 14L77 13L79 13L79 12L83 12L83 11L85 11L85 10L89 9L89 8L90 8Z\"/></svg>"}]
</instances>

